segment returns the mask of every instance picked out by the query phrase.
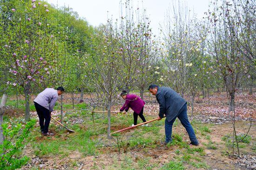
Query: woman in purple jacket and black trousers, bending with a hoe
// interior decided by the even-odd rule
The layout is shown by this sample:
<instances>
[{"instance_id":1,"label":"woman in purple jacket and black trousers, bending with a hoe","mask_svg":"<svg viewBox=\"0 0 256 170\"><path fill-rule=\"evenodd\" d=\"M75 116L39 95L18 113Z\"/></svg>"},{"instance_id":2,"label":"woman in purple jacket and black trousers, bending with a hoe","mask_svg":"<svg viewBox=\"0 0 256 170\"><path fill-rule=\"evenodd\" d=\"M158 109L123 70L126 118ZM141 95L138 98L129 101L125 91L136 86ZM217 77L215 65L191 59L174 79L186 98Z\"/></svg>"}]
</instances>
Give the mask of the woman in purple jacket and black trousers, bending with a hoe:
<instances>
[{"instance_id":1,"label":"woman in purple jacket and black trousers, bending with a hoe","mask_svg":"<svg viewBox=\"0 0 256 170\"><path fill-rule=\"evenodd\" d=\"M146 119L143 116L143 108L145 105L145 101L143 101L139 96L135 94L128 94L126 90L122 91L121 97L125 100L125 103L123 107L121 107L120 112L122 112L123 110L127 112L130 107L134 111L134 124L132 124L132 126L137 125L138 115L140 116L143 122L146 122ZM144 124L142 126L148 126L148 124Z\"/></svg>"}]
</instances>

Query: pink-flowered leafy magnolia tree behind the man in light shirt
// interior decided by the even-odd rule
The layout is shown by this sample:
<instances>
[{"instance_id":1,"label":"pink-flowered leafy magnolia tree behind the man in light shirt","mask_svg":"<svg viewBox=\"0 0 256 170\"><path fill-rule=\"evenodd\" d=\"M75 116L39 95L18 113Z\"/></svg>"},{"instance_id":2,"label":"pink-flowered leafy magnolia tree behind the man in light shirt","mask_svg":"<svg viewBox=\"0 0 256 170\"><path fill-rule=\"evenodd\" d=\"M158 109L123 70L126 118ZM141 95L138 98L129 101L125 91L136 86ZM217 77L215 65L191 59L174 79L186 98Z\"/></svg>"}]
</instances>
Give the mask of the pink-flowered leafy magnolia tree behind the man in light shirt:
<instances>
[{"instance_id":1,"label":"pink-flowered leafy magnolia tree behind the man in light shirt","mask_svg":"<svg viewBox=\"0 0 256 170\"><path fill-rule=\"evenodd\" d=\"M27 13L23 13L26 9ZM12 86L21 86L26 100L25 120L30 119L30 92L34 82L42 82L49 75L55 44L47 23L47 5L35 0L20 1L10 9L7 22L4 54L13 81Z\"/></svg>"}]
</instances>

